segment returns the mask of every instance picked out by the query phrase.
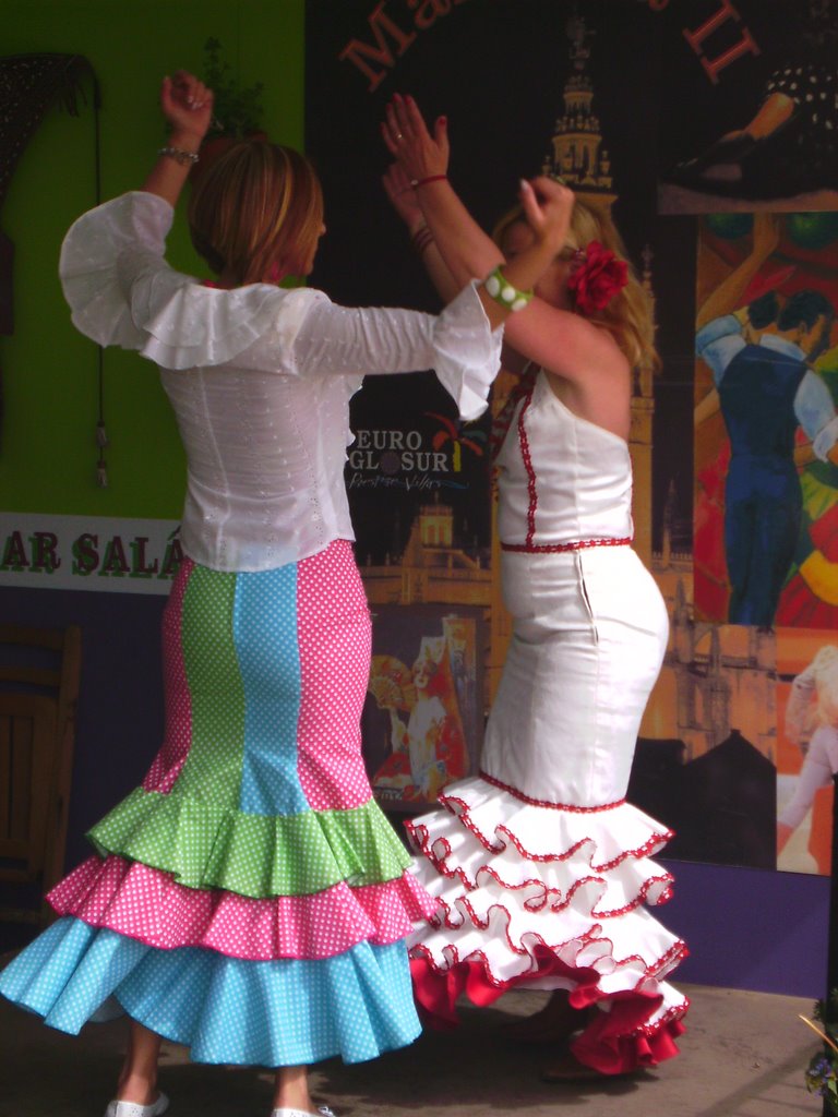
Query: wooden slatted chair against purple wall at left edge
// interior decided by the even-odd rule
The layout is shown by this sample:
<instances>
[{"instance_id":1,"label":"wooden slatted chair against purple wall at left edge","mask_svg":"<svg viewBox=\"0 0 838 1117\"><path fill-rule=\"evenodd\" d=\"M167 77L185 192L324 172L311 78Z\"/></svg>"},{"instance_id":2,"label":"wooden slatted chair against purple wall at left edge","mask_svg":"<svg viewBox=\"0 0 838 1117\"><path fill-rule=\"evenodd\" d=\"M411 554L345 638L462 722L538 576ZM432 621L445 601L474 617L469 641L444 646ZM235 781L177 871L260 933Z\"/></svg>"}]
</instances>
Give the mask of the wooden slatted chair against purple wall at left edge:
<instances>
[{"instance_id":1,"label":"wooden slatted chair against purple wall at left edge","mask_svg":"<svg viewBox=\"0 0 838 1117\"><path fill-rule=\"evenodd\" d=\"M0 922L47 924L64 869L80 629L0 624ZM20 888L13 887L20 886ZM9 906L12 895L23 906Z\"/></svg>"}]
</instances>

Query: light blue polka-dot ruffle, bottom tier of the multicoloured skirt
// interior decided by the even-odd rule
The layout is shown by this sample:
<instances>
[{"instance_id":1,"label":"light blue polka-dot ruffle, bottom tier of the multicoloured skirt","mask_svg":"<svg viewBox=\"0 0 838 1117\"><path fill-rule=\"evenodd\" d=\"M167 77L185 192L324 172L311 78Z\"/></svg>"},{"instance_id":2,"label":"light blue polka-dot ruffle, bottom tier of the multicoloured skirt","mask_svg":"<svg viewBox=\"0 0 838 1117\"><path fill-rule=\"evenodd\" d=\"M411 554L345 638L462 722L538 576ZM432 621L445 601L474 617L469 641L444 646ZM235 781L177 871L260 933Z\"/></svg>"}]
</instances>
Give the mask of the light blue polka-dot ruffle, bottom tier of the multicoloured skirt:
<instances>
[{"instance_id":1,"label":"light blue polka-dot ruffle, bottom tier of the multicoloured skirt","mask_svg":"<svg viewBox=\"0 0 838 1117\"><path fill-rule=\"evenodd\" d=\"M156 951L67 918L7 966L0 993L73 1034L115 999L196 1062L362 1062L419 1033L401 943L363 943L320 961L242 962Z\"/></svg>"}]
</instances>

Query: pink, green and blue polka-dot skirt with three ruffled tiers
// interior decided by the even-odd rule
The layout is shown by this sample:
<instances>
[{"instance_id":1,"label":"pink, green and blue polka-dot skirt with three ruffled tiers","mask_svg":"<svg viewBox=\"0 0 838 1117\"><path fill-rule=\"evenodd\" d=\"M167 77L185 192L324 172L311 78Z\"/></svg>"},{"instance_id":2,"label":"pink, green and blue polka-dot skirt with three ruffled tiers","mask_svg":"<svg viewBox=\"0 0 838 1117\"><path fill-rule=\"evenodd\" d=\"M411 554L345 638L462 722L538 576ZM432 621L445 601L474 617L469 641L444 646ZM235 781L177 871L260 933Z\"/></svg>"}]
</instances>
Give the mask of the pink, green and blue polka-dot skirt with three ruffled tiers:
<instances>
[{"instance_id":1,"label":"pink, green and blue polka-dot skirt with three ruffled tiers","mask_svg":"<svg viewBox=\"0 0 838 1117\"><path fill-rule=\"evenodd\" d=\"M371 798L369 657L347 542L257 573L187 560L163 618L163 747L0 993L66 1032L125 1012L200 1062L410 1043L404 938L434 901Z\"/></svg>"}]
</instances>

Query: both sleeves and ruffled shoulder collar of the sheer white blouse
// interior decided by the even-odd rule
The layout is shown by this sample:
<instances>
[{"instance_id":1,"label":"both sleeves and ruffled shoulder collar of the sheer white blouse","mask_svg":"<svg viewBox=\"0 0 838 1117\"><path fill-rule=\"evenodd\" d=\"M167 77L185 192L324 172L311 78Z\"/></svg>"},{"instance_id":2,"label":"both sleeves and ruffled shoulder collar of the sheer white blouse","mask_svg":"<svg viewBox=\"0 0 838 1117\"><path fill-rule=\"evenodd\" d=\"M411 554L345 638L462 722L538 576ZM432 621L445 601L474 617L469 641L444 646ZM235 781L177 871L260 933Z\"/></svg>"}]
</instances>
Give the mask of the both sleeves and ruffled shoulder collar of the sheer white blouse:
<instances>
[{"instance_id":1,"label":"both sleeves and ruffled shoulder collar of the sheer white blouse","mask_svg":"<svg viewBox=\"0 0 838 1117\"><path fill-rule=\"evenodd\" d=\"M289 375L336 373L350 389L372 374L435 369L460 417L486 408L501 365L475 284L438 316L346 309L317 290L250 284L206 287L165 262L172 208L135 191L85 213L61 249L73 322L101 345L137 350L164 369L235 363Z\"/></svg>"}]
</instances>

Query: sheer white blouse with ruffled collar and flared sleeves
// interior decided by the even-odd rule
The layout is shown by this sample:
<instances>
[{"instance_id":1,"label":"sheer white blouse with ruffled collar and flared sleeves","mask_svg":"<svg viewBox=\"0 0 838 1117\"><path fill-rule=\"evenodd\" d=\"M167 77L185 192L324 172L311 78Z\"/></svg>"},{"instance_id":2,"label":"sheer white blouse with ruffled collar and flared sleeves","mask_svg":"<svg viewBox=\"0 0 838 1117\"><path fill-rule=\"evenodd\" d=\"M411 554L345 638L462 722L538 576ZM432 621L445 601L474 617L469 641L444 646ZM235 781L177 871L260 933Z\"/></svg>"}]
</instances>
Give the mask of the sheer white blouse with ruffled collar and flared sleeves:
<instances>
[{"instance_id":1,"label":"sheer white blouse with ruffled collar and flared sleeves","mask_svg":"<svg viewBox=\"0 0 838 1117\"><path fill-rule=\"evenodd\" d=\"M474 419L502 331L474 285L439 317L347 309L311 288L207 287L163 258L172 217L156 194L106 202L70 228L59 270L82 333L160 366L187 451L184 552L259 571L353 540L343 467L362 378L432 367Z\"/></svg>"}]
</instances>

